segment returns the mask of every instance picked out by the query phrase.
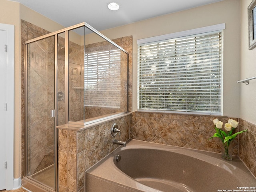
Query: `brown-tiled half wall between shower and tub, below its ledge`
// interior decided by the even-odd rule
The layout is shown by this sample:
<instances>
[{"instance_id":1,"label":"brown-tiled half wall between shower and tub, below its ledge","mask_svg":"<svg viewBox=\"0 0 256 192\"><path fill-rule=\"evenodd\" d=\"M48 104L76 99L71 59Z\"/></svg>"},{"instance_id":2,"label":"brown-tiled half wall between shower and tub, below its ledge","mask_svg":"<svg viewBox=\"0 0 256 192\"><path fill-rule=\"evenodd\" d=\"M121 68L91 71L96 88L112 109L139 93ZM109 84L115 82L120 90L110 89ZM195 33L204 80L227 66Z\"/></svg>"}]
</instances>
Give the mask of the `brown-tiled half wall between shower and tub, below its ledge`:
<instances>
[{"instance_id":1,"label":"brown-tiled half wall between shower and tub, below its ledge","mask_svg":"<svg viewBox=\"0 0 256 192\"><path fill-rule=\"evenodd\" d=\"M118 147L110 135L112 124L117 123L121 130L116 139L126 141L130 116L82 130L58 129L59 192L85 191L85 170Z\"/></svg>"}]
</instances>

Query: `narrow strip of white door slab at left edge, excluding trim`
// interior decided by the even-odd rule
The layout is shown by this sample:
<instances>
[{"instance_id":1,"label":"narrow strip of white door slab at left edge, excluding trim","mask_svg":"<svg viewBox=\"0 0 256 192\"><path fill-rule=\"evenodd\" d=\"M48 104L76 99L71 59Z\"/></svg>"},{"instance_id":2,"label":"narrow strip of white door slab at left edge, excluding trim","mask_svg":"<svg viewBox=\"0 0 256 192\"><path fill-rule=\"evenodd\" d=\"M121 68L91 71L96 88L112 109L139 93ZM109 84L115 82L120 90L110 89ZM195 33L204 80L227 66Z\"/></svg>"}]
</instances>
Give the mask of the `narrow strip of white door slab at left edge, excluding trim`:
<instances>
[{"instance_id":1,"label":"narrow strip of white door slab at left edge, excluding trim","mask_svg":"<svg viewBox=\"0 0 256 192\"><path fill-rule=\"evenodd\" d=\"M6 31L0 30L0 190L6 188Z\"/></svg>"}]
</instances>

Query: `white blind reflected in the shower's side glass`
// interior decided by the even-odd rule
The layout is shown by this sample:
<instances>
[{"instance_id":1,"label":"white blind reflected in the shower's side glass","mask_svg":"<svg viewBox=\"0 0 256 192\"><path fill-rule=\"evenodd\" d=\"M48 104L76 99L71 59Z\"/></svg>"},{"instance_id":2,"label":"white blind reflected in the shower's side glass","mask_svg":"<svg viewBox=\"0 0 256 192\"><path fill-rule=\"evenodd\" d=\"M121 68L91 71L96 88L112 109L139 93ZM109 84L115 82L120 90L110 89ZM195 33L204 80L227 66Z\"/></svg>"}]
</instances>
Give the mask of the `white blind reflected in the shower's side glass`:
<instances>
[{"instance_id":1,"label":"white blind reflected in the shower's side glass","mask_svg":"<svg viewBox=\"0 0 256 192\"><path fill-rule=\"evenodd\" d=\"M120 108L120 50L84 55L86 106Z\"/></svg>"}]
</instances>

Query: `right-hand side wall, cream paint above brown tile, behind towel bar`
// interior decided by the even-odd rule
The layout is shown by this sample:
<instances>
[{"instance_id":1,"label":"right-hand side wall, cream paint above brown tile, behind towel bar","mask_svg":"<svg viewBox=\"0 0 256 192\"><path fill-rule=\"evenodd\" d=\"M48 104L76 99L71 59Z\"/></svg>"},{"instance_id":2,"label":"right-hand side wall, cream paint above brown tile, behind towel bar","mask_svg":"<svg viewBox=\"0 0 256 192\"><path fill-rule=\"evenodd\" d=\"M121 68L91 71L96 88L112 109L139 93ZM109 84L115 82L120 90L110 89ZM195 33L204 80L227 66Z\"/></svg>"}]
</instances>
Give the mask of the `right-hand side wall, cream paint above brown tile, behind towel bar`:
<instances>
[{"instance_id":1,"label":"right-hand side wall, cream paint above brown tile, behind towel bar","mask_svg":"<svg viewBox=\"0 0 256 192\"><path fill-rule=\"evenodd\" d=\"M248 50L247 8L252 0L241 0L241 62L240 80L256 76L256 48ZM240 83L240 122L248 134L239 138L239 157L256 176L256 80Z\"/></svg>"}]
</instances>

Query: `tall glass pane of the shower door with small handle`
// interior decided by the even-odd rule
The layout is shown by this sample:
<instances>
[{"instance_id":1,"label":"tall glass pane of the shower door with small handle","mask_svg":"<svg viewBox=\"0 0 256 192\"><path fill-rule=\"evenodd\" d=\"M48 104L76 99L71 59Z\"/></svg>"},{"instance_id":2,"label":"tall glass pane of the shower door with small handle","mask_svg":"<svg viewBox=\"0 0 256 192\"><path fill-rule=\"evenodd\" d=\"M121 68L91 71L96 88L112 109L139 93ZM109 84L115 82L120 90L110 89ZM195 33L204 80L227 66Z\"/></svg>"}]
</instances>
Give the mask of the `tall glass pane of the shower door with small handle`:
<instances>
[{"instance_id":1,"label":"tall glass pane of the shower door with small handle","mask_svg":"<svg viewBox=\"0 0 256 192\"><path fill-rule=\"evenodd\" d=\"M27 175L55 189L54 37L28 44Z\"/></svg>"}]
</instances>

